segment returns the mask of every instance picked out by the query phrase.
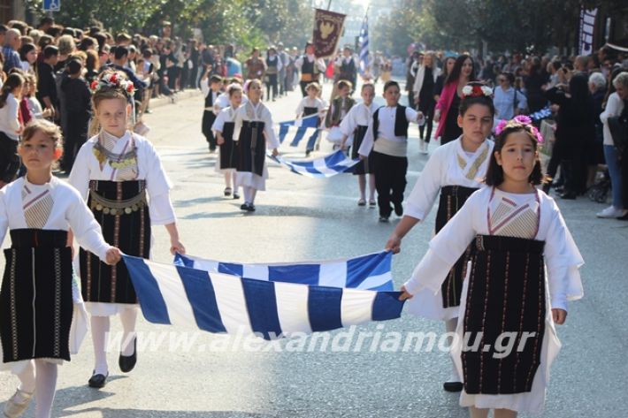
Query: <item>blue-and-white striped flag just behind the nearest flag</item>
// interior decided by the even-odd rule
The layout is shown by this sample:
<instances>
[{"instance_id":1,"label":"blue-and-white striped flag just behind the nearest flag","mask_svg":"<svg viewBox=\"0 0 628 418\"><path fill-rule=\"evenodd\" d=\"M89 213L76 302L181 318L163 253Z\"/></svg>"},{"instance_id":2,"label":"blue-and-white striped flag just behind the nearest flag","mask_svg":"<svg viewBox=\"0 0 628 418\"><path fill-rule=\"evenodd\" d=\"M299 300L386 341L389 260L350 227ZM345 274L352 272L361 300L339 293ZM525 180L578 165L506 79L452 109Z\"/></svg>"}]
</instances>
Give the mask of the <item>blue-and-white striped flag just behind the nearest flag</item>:
<instances>
[{"instance_id":1,"label":"blue-and-white striped flag just behind the nearest flag","mask_svg":"<svg viewBox=\"0 0 628 418\"><path fill-rule=\"evenodd\" d=\"M292 263L217 262L192 255L174 256L174 264L209 273L223 273L272 282L348 287L355 289L392 291L390 272L393 254L390 252L361 255L344 260Z\"/></svg>"}]
</instances>

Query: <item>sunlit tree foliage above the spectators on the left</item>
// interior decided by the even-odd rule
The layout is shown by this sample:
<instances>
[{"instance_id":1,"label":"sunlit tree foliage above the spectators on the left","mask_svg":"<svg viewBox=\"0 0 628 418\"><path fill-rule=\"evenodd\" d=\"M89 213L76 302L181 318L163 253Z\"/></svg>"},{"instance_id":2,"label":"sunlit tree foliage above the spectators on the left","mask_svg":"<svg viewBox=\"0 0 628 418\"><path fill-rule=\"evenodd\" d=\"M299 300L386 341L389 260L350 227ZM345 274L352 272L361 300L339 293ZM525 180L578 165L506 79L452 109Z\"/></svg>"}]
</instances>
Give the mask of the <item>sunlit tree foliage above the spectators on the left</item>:
<instances>
[{"instance_id":1,"label":"sunlit tree foliage above the spectators on the left","mask_svg":"<svg viewBox=\"0 0 628 418\"><path fill-rule=\"evenodd\" d=\"M42 16L42 0L27 0ZM63 0L55 19L68 27L89 27L95 21L114 33L157 34L164 20L173 34L188 37L203 31L206 42L235 43L242 48L284 42L303 47L314 19L303 0Z\"/></svg>"}]
</instances>

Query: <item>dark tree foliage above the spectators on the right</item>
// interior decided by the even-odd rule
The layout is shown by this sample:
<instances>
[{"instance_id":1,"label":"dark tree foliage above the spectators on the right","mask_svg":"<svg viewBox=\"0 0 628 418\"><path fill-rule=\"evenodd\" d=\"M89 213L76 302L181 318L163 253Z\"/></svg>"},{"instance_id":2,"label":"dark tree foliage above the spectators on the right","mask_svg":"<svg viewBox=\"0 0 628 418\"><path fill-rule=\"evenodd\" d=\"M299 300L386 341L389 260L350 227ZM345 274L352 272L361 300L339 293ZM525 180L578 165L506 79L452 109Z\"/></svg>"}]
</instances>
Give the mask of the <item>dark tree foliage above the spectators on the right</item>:
<instances>
[{"instance_id":1,"label":"dark tree foliage above the spectators on the right","mask_svg":"<svg viewBox=\"0 0 628 418\"><path fill-rule=\"evenodd\" d=\"M571 46L581 4L613 13L614 0L405 0L379 19L377 49L402 54L411 42L431 49L537 50Z\"/></svg>"}]
</instances>

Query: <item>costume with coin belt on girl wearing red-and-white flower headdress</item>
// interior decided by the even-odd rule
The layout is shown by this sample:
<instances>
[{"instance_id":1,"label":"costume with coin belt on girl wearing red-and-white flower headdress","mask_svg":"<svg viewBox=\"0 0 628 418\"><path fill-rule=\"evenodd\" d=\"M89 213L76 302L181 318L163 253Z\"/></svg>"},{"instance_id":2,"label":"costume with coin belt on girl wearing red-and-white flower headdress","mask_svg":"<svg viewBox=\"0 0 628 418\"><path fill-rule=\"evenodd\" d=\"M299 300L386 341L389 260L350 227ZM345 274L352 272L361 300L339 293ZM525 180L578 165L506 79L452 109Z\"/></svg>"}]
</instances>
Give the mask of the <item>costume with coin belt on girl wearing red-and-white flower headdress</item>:
<instances>
[{"instance_id":1,"label":"costume with coin belt on girl wearing red-and-white flower headdress","mask_svg":"<svg viewBox=\"0 0 628 418\"><path fill-rule=\"evenodd\" d=\"M101 131L88 140L69 180L88 201L105 239L126 255L149 258L151 226L176 221L170 180L159 156L135 133L116 138ZM91 315L116 315L137 305L124 262L112 267L81 248L80 283Z\"/></svg>"}]
</instances>

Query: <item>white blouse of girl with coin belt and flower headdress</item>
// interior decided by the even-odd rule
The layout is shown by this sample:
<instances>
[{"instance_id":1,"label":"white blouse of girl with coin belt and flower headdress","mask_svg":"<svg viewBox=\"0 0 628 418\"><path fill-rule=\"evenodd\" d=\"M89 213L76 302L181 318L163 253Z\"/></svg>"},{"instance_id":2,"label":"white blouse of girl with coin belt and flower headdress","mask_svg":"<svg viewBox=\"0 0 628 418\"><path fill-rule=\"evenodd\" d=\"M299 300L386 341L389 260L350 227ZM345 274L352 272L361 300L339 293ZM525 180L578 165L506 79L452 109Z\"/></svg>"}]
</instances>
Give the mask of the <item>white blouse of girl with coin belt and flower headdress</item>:
<instances>
[{"instance_id":1,"label":"white blouse of girl with coin belt and flower headdress","mask_svg":"<svg viewBox=\"0 0 628 418\"><path fill-rule=\"evenodd\" d=\"M114 153L121 153L131 141L131 133L126 131L119 138ZM153 145L144 137L133 133L137 152L138 180L146 180L146 189L149 197L150 224L172 224L176 222L172 202L170 201L170 189L172 184L165 173L164 166L157 155ZM115 169L109 163L104 163L101 169L100 163L94 156L94 145L98 141L98 135L90 138L80 147L74 160L72 172L68 181L79 191L83 199L87 200L90 180L115 179Z\"/></svg>"}]
</instances>

